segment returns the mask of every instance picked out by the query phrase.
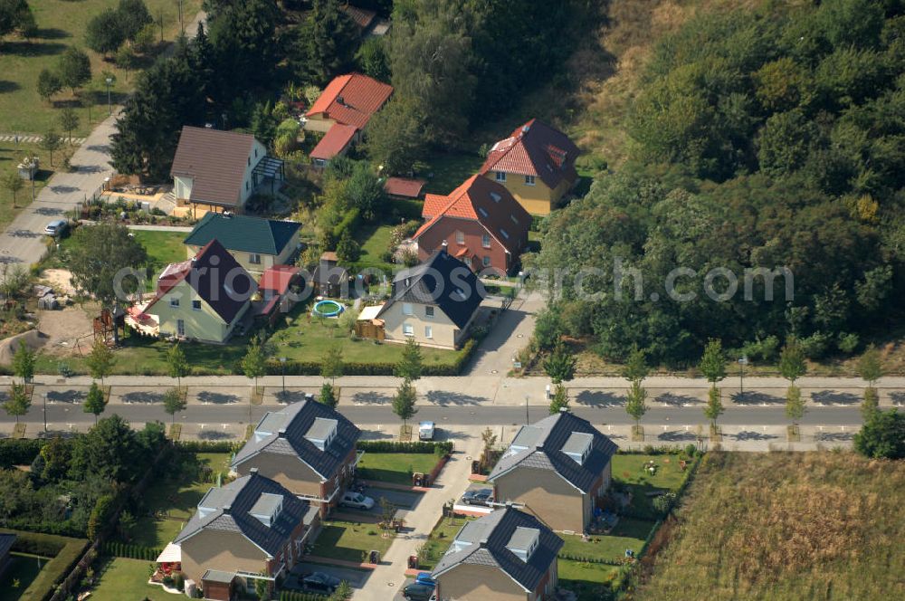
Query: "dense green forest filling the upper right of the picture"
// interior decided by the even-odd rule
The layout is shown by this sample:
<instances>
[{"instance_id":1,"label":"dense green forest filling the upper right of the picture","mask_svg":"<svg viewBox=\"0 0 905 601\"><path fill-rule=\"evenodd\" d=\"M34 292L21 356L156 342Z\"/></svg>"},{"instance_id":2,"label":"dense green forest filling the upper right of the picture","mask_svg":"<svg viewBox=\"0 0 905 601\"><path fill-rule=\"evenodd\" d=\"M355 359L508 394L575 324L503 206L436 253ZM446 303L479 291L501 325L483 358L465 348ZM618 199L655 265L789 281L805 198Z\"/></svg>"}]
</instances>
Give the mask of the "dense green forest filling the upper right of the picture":
<instances>
[{"instance_id":1,"label":"dense green forest filling the upper right of the picture","mask_svg":"<svg viewBox=\"0 0 905 601\"><path fill-rule=\"evenodd\" d=\"M633 346L687 366L709 338L769 360L786 337L811 358L849 353L900 324L905 259L905 15L898 0L771 2L699 14L656 45L624 127L631 158L548 219L532 266L569 277L538 342L589 337L604 358ZM593 227L589 227L593 224ZM614 293L614 262L643 275ZM787 267L774 300L746 268ZM676 281L689 301L672 300ZM706 274L738 292L715 301ZM727 291L728 281L710 281ZM730 290L729 290L730 291ZM659 298L652 300L650 294Z\"/></svg>"}]
</instances>

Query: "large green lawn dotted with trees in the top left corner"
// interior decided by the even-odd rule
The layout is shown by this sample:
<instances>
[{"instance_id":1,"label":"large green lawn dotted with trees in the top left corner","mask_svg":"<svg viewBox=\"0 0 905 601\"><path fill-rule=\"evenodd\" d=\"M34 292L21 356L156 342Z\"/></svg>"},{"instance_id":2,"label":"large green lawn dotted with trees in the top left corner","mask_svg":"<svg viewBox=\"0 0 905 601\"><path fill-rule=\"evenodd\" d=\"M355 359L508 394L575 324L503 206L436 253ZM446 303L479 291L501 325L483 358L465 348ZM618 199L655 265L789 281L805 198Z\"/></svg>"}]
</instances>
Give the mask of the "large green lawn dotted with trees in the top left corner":
<instances>
[{"instance_id":1,"label":"large green lawn dotted with trees in the top left corner","mask_svg":"<svg viewBox=\"0 0 905 601\"><path fill-rule=\"evenodd\" d=\"M116 76L111 88L116 94L114 101L129 91L136 79L135 72L117 69L112 62L104 62L100 55L87 50L85 46L85 29L90 19L105 8L115 7L119 2L31 0L28 4L32 7L38 24L37 35L32 40L9 35L0 42L0 132L43 134L51 127L59 131L60 110L73 106L81 119L80 127L74 133L84 136L91 129L92 122L96 123L107 117L107 84L101 73L109 71ZM145 4L155 18L163 15L165 39L175 39L179 31L176 3L172 0L145 0ZM186 20L193 18L200 6L201 0L186 0ZM91 59L92 79L83 94L83 97L90 98L95 104L90 120L87 105L73 97L71 91L57 94L51 104L41 100L36 90L38 73L42 69L54 69L60 54L69 46L80 47L88 52Z\"/></svg>"}]
</instances>

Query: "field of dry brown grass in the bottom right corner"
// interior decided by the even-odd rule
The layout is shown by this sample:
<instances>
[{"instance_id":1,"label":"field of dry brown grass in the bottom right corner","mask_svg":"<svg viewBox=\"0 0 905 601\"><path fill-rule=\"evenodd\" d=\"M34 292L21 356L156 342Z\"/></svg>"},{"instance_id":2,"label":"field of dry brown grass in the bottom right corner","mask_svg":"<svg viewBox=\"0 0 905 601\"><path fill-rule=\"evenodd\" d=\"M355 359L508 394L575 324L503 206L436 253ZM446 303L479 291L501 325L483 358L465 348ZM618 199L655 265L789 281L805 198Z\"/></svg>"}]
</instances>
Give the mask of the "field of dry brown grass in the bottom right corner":
<instances>
[{"instance_id":1,"label":"field of dry brown grass in the bottom right corner","mask_svg":"<svg viewBox=\"0 0 905 601\"><path fill-rule=\"evenodd\" d=\"M709 453L634 594L905 598L905 463L853 453Z\"/></svg>"}]
</instances>

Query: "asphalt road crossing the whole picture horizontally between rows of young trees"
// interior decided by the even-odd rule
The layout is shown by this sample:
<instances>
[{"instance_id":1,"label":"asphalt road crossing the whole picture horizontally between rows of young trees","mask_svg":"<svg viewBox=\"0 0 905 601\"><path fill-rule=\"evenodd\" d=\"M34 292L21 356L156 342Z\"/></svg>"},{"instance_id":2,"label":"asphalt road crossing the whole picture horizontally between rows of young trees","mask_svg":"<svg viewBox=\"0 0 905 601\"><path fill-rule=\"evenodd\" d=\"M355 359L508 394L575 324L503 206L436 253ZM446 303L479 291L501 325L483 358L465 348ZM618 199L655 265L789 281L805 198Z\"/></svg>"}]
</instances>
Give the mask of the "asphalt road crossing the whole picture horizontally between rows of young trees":
<instances>
[{"instance_id":1,"label":"asphalt road crossing the whole picture horizontally between rows of young trees","mask_svg":"<svg viewBox=\"0 0 905 601\"><path fill-rule=\"evenodd\" d=\"M252 406L251 419L257 423L267 411L277 411L280 405ZM20 418L29 424L43 424L43 406L34 403L28 415ZM595 425L630 425L633 420L622 407L573 406L573 413L584 417ZM399 418L389 405L342 406L339 412L357 425L395 425ZM170 421L159 403L148 405L109 405L104 415L119 414L129 422L145 423L154 420ZM548 415L547 407L529 405L528 421L536 422ZM247 424L249 405L189 405L185 411L176 414L176 420L183 424ZM469 406L442 407L421 406L413 421L430 420L441 428L444 425L521 425L526 422L526 409L519 406ZM0 423L12 423L13 417L0 415ZM82 411L81 405L52 403L47 405L47 421L59 424L86 424L94 421L94 416ZM644 415L642 424L647 425L697 425L704 421L700 407L651 407ZM721 425L787 425L784 406L729 407L719 417ZM860 425L860 408L857 406L829 406L811 408L801 420L803 425ZM31 430L31 428L30 428Z\"/></svg>"}]
</instances>

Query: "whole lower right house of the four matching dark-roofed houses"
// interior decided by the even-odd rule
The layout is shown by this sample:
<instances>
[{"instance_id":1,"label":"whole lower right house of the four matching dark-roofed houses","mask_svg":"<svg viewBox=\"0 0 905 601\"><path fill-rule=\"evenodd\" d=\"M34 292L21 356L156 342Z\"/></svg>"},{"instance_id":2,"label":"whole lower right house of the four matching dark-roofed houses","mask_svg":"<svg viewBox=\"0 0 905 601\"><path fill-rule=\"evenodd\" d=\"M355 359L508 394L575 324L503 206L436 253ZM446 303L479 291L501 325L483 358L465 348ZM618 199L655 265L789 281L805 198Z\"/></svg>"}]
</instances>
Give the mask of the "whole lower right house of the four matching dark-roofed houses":
<instances>
[{"instance_id":1,"label":"whole lower right house of the four matching dark-roofed houses","mask_svg":"<svg viewBox=\"0 0 905 601\"><path fill-rule=\"evenodd\" d=\"M466 521L431 576L438 599L541 601L556 594L563 541L512 507Z\"/></svg>"}]
</instances>

